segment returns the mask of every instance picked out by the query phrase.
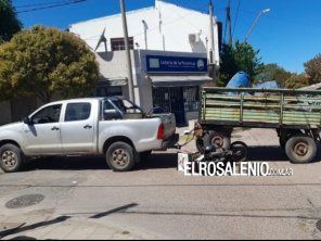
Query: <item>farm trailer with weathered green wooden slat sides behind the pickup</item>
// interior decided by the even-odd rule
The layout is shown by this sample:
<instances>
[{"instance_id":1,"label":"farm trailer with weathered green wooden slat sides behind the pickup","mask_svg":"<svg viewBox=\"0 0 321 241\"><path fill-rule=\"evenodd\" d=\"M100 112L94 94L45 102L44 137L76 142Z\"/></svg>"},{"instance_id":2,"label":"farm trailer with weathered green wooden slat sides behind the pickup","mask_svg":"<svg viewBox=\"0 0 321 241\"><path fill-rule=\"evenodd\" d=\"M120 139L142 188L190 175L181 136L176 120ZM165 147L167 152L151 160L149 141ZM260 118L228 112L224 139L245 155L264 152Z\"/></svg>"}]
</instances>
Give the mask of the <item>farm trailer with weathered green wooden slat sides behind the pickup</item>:
<instances>
[{"instance_id":1,"label":"farm trailer with weathered green wooden slat sides behind the pickup","mask_svg":"<svg viewBox=\"0 0 321 241\"><path fill-rule=\"evenodd\" d=\"M229 149L235 127L274 128L294 163L312 162L320 141L321 91L201 88L196 147Z\"/></svg>"}]
</instances>

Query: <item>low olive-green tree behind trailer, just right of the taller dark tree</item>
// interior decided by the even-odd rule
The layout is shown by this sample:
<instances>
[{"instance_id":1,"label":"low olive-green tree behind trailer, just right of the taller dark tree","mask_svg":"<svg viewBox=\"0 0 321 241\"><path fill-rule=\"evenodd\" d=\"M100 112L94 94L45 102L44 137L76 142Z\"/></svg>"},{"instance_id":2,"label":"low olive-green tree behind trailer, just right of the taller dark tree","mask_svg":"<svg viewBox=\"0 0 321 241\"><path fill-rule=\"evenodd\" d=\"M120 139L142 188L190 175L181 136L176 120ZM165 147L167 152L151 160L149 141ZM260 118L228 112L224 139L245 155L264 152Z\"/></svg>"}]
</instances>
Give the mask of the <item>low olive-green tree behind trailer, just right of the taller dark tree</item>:
<instances>
[{"instance_id":1,"label":"low olive-green tree behind trailer, just right of the taller dark tree","mask_svg":"<svg viewBox=\"0 0 321 241\"><path fill-rule=\"evenodd\" d=\"M277 80L280 87L285 87L285 81L292 76L292 74L278 64L265 64L261 72L256 75L255 81L262 83L269 80Z\"/></svg>"}]
</instances>

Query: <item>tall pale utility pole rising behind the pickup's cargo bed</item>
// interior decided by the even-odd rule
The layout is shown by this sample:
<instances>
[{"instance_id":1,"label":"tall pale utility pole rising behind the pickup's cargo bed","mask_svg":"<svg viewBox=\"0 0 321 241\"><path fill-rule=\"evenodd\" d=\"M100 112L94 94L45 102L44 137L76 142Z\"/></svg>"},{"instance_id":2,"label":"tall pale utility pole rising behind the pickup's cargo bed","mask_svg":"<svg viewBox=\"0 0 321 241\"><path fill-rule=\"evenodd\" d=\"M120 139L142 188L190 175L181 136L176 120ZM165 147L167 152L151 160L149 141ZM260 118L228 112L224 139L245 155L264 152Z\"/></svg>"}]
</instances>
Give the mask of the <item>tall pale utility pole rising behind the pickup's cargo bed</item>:
<instances>
[{"instance_id":1,"label":"tall pale utility pole rising behind the pickup's cargo bed","mask_svg":"<svg viewBox=\"0 0 321 241\"><path fill-rule=\"evenodd\" d=\"M126 10L125 10L124 0L119 0L119 3L120 3L121 21L123 21L123 29L124 29L124 41L125 41L126 62L127 62L129 100L134 102L134 100L133 100L132 69L131 69L131 60L130 60L130 51L129 51L129 42L128 42L127 21L126 21L126 13L125 13Z\"/></svg>"}]
</instances>

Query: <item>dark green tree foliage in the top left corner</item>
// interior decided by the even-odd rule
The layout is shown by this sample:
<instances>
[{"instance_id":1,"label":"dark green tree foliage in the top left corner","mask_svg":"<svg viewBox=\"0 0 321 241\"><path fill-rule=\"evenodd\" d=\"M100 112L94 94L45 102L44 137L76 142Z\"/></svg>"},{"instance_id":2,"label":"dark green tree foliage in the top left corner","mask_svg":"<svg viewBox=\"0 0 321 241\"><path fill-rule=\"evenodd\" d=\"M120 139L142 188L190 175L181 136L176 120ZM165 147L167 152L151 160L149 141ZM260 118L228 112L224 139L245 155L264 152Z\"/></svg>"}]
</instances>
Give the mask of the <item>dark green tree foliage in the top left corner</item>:
<instances>
[{"instance_id":1,"label":"dark green tree foliage in the top left corner","mask_svg":"<svg viewBox=\"0 0 321 241\"><path fill-rule=\"evenodd\" d=\"M12 1L0 0L0 43L10 40L21 28Z\"/></svg>"}]
</instances>

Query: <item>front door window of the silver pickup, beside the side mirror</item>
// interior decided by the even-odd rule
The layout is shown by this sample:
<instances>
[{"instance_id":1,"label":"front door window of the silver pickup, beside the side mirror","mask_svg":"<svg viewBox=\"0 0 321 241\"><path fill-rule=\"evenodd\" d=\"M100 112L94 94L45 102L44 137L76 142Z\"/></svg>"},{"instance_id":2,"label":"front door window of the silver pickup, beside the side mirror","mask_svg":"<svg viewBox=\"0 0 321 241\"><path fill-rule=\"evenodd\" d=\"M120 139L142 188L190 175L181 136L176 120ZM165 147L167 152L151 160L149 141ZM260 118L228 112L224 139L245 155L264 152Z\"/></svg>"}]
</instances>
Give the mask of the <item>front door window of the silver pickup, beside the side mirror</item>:
<instances>
[{"instance_id":1,"label":"front door window of the silver pickup, beside the side mirror","mask_svg":"<svg viewBox=\"0 0 321 241\"><path fill-rule=\"evenodd\" d=\"M44 123L57 123L61 115L62 105L54 104L41 109L37 112L33 117L31 120L34 124L44 124Z\"/></svg>"}]
</instances>

